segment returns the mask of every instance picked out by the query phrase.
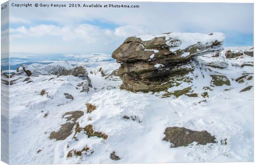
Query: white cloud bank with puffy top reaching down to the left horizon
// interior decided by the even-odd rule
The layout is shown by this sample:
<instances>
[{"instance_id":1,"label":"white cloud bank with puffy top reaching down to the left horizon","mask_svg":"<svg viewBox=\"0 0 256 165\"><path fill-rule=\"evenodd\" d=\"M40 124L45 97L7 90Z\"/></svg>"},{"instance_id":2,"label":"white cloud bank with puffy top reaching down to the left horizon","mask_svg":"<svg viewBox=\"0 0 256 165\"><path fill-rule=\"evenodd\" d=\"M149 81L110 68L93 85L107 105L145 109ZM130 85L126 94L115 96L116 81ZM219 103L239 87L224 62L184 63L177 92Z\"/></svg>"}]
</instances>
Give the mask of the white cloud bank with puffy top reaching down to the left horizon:
<instances>
[{"instance_id":1,"label":"white cloud bank with puffy top reaching down to the left horizon","mask_svg":"<svg viewBox=\"0 0 256 165\"><path fill-rule=\"evenodd\" d=\"M120 26L114 30L90 24L77 26L38 25L10 29L11 52L106 52L111 53L127 37L147 33L140 26ZM107 50L107 51L106 51Z\"/></svg>"}]
</instances>

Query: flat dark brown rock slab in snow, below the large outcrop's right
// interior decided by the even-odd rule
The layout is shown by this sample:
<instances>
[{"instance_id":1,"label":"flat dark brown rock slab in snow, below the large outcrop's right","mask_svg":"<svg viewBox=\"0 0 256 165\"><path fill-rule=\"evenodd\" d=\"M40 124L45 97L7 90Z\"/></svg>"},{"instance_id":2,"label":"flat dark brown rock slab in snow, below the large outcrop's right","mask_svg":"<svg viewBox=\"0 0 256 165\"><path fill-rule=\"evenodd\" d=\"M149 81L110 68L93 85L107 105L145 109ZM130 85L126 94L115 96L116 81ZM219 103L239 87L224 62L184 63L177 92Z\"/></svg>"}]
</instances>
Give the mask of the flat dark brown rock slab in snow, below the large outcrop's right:
<instances>
[{"instance_id":1,"label":"flat dark brown rock slab in snow, below the large outcrop's right","mask_svg":"<svg viewBox=\"0 0 256 165\"><path fill-rule=\"evenodd\" d=\"M163 140L172 143L171 147L188 146L196 141L198 144L216 143L215 137L206 131L192 131L184 127L167 127Z\"/></svg>"}]
</instances>

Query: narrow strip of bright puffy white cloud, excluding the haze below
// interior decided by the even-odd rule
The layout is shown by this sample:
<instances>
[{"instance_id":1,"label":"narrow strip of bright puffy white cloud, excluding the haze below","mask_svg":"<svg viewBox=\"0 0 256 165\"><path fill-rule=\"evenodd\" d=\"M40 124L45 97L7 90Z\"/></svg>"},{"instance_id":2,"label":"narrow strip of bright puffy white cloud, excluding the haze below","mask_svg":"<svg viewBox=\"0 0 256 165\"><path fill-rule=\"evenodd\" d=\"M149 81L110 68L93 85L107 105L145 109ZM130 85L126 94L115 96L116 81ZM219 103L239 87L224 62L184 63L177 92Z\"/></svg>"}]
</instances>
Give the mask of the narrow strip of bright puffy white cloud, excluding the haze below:
<instances>
[{"instance_id":1,"label":"narrow strip of bright puffy white cloud, excluding the haze below","mask_svg":"<svg viewBox=\"0 0 256 165\"><path fill-rule=\"evenodd\" d=\"M21 26L11 28L10 35L12 38L40 38L47 36L59 36L64 41L82 40L86 43L101 42L113 38L127 38L137 34L145 34L149 31L142 26L120 26L114 30L101 29L98 26L90 24L79 24L78 26L55 26L55 25L38 25L26 28Z\"/></svg>"}]
</instances>

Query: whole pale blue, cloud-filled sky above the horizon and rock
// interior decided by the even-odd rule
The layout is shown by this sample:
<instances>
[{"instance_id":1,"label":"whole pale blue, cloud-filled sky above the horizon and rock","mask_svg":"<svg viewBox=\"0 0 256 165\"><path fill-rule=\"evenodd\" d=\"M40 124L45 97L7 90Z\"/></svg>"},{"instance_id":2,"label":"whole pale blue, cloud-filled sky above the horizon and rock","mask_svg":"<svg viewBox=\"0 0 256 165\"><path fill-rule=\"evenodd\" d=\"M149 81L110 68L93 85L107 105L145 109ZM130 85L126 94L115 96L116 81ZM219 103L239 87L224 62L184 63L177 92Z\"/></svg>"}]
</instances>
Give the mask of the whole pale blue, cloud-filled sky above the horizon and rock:
<instances>
[{"instance_id":1,"label":"whole pale blue, cloud-filled sky above the horizon and rock","mask_svg":"<svg viewBox=\"0 0 256 165\"><path fill-rule=\"evenodd\" d=\"M98 2L140 7L47 8L34 4L49 1L30 3L33 7L10 7L10 52L111 54L127 37L168 32L222 32L225 46L253 45L253 4Z\"/></svg>"}]
</instances>

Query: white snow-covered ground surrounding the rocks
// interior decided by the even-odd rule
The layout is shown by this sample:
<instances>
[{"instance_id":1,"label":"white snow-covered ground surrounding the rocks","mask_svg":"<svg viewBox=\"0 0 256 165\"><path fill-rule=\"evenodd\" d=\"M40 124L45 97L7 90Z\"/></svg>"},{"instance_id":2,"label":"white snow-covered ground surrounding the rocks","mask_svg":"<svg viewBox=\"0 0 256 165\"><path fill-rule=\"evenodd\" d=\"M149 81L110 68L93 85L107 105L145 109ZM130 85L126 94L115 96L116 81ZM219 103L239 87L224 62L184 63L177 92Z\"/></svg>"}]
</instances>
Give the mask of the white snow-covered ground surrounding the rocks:
<instances>
[{"instance_id":1,"label":"white snow-covered ground surrounding the rocks","mask_svg":"<svg viewBox=\"0 0 256 165\"><path fill-rule=\"evenodd\" d=\"M247 48L243 47L244 50ZM192 82L168 89L172 92L191 86L198 97L182 95L178 98L163 97L163 92L120 90L121 78L106 79L107 76L102 77L100 72L101 67L108 75L120 64L95 58L83 56L79 59L86 61L68 61L73 66L87 69L92 80L88 93L76 90L76 85L82 80L72 75L32 76L33 82L30 83L24 81L26 77L11 78L17 79L14 85L10 85L11 164L253 161L253 89L239 92L253 85L253 78L242 83L235 81L243 73L253 75L253 67L240 67L244 62L253 61L253 57L244 55L243 58L225 59L221 54L215 62L228 65L220 69L204 66L204 63L212 62L207 61L206 54L198 59L206 69L198 67L190 73ZM105 58L108 59L107 55ZM211 86L210 75L214 74L225 75L230 86ZM204 87L211 90L204 91ZM42 90L46 93L43 96L40 95ZM202 97L202 92L208 92L209 97ZM64 93L71 94L73 100L66 99ZM87 113L86 103L97 106L96 110ZM50 133L57 132L66 123L62 116L69 111L83 111L84 115L77 120L80 127L92 125L95 131L107 134L108 138L88 138L81 131L74 139L74 127L66 139L50 139ZM134 120L123 118L125 115ZM171 148L170 142L162 139L166 127L174 126L206 130L218 142ZM225 139L227 145L222 142ZM69 151L81 151L84 147L90 148L90 154L82 152L81 156L67 158ZM109 158L113 151L120 160Z\"/></svg>"}]
</instances>

